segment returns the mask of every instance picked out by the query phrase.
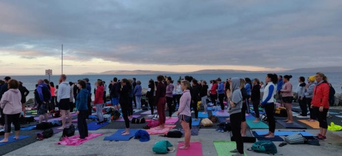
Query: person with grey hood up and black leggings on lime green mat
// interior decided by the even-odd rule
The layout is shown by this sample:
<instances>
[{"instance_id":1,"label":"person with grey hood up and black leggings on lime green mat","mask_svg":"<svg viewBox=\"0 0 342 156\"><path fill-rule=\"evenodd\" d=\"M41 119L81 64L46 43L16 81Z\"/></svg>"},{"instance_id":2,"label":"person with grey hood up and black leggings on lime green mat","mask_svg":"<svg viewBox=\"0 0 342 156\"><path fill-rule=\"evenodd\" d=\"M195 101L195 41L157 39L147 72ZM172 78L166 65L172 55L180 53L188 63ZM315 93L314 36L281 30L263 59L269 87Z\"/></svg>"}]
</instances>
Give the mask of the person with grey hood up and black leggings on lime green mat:
<instances>
[{"instance_id":1,"label":"person with grey hood up and black leggings on lime green mat","mask_svg":"<svg viewBox=\"0 0 342 156\"><path fill-rule=\"evenodd\" d=\"M231 132L236 141L236 149L230 151L236 153L232 156L244 156L243 140L241 136L241 109L242 109L242 93L240 91L240 79L232 78L229 82L230 90L226 89L228 112L230 114Z\"/></svg>"}]
</instances>

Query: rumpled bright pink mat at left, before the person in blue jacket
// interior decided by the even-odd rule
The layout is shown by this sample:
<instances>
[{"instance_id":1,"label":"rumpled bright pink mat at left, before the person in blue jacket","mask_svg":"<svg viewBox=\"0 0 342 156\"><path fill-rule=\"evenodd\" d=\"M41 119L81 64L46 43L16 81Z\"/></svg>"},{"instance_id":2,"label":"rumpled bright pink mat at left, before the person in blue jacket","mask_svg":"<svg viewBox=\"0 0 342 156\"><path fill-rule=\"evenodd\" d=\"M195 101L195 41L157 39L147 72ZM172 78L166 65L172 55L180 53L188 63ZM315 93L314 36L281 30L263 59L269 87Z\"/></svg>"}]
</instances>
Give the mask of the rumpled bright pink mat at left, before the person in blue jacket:
<instances>
[{"instance_id":1,"label":"rumpled bright pink mat at left, before the person in blue jacket","mask_svg":"<svg viewBox=\"0 0 342 156\"><path fill-rule=\"evenodd\" d=\"M88 134L88 137L85 137L85 139L79 139L80 134L74 135L74 136L70 136L70 137L65 137L62 141L59 141L56 143L59 145L66 145L66 146L78 146L81 145L83 143L85 143L88 140L91 140L93 138L96 138L98 136L102 135L101 134Z\"/></svg>"}]
</instances>

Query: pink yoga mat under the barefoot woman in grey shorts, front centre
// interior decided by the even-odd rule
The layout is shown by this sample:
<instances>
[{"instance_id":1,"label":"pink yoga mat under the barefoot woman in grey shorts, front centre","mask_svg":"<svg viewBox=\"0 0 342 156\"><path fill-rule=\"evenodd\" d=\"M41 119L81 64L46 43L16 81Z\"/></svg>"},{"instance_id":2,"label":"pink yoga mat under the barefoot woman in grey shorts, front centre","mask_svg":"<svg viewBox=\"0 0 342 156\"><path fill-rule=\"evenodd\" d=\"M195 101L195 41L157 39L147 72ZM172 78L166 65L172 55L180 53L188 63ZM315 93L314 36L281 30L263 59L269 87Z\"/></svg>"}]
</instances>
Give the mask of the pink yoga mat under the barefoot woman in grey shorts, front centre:
<instances>
[{"instance_id":1,"label":"pink yoga mat under the barefoot woman in grey shorts, front centre","mask_svg":"<svg viewBox=\"0 0 342 156\"><path fill-rule=\"evenodd\" d=\"M188 149L179 149L179 147L183 145L184 145L184 142L178 143L176 156L203 156L202 155L202 143L190 142L190 147Z\"/></svg>"}]
</instances>

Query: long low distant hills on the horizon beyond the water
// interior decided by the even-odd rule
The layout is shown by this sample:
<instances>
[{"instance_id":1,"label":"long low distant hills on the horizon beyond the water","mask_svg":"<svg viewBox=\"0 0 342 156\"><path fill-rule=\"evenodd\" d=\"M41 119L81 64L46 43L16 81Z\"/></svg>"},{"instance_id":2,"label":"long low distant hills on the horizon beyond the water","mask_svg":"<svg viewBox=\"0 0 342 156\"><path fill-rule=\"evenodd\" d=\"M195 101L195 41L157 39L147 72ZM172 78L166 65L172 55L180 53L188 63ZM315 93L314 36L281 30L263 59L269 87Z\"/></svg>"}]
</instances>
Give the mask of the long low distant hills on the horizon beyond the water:
<instances>
[{"instance_id":1,"label":"long low distant hills on the horizon beyond the water","mask_svg":"<svg viewBox=\"0 0 342 156\"><path fill-rule=\"evenodd\" d=\"M143 75L143 74L223 74L223 73L316 73L318 71L327 72L342 72L342 67L312 67L298 68L282 71L248 71L248 70L233 70L233 69L204 69L192 72L171 72L171 71L155 71L155 70L109 70L100 73L88 72L86 75Z\"/></svg>"}]
</instances>

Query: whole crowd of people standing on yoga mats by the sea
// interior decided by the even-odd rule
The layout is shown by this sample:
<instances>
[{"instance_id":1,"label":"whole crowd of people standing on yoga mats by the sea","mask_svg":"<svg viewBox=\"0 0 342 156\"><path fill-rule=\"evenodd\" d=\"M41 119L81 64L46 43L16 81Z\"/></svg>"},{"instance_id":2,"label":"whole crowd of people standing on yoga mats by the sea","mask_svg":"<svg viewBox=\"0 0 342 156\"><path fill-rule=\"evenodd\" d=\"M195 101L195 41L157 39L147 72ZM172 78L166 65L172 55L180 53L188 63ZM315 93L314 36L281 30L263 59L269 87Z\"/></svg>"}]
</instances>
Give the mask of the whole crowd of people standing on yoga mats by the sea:
<instances>
[{"instance_id":1,"label":"whole crowd of people standing on yoga mats by the sea","mask_svg":"<svg viewBox=\"0 0 342 156\"><path fill-rule=\"evenodd\" d=\"M200 101L207 113L207 101L221 107L220 111L230 113L230 124L232 134L236 139L236 149L232 152L237 153L236 156L243 155L242 136L246 135L247 123L245 113L250 111L250 103L255 111L256 119L253 122L259 122L259 107L262 107L267 115L269 132L265 137L274 137L275 132L275 102L278 100L281 106L287 111L287 123L293 123L291 105L294 99L292 92L291 75L284 77L277 74L267 74L265 76L265 84L257 78L228 78L222 81L221 78L210 80L209 84L205 80L196 80L192 76L185 76L183 79L179 77L177 85L173 85L173 80L169 76L158 75L157 81L150 79L148 81L148 89L146 93L147 104L144 107L154 114L157 109L160 125L158 129L163 129L166 121L166 110L171 118L172 113L176 112L180 116L180 123L185 132L185 144L180 149L187 149L190 146L190 129L192 115L194 112L194 120L198 120L199 110L198 102ZM87 137L86 119L91 115L91 85L89 79L78 80L77 83L67 82L65 74L60 75L58 85L48 80L38 80L34 91L35 101L37 103L37 113L39 115L39 123L45 120L48 122L48 112L58 110L61 113L62 126L64 129L72 124L71 112L76 108L78 114L78 128L80 138ZM326 140L327 120L326 115L329 110L329 92L331 84L328 83L327 77L317 72L314 76L307 78L307 84L304 77L298 78L298 94L296 99L299 102L302 113L300 115L307 116L309 109L310 118L308 121L319 121L319 133L315 136L318 140ZM93 105L96 108L98 116L97 124L103 124L103 104L106 103L106 92L109 89L111 104L115 111L122 112L125 121L126 130L122 135L130 134L129 122L133 117L133 108L142 109L142 87L141 81L133 79L118 80L114 77L113 81L108 85L105 81L98 79L95 82L95 94ZM7 142L9 133L11 132L11 124L15 128L15 138L19 137L19 117L25 116L26 96L29 91L21 82L6 76L4 81L0 81L0 104L1 118L0 126L5 129L5 137L0 142ZM218 99L218 102L216 102ZM73 102L75 101L75 103ZM227 106L225 106L225 101ZM134 107L133 104L134 103ZM178 104L178 106L177 106ZM167 108L166 108L167 107ZM178 109L177 109L178 108ZM66 123L68 121L68 123Z\"/></svg>"}]
</instances>

